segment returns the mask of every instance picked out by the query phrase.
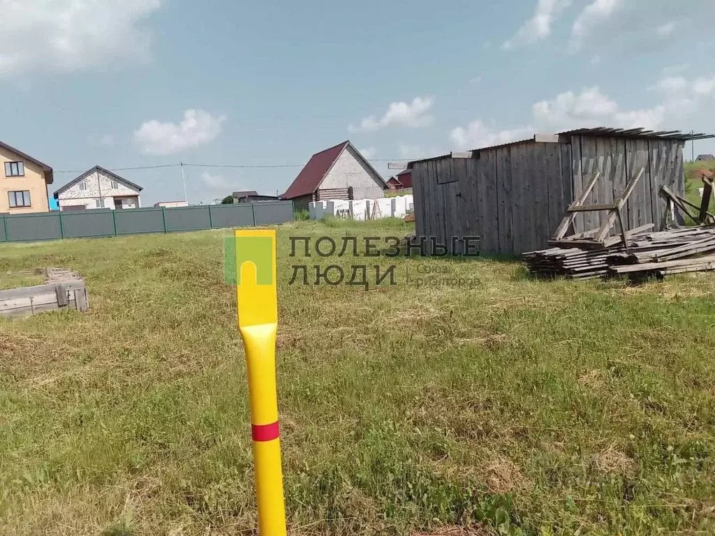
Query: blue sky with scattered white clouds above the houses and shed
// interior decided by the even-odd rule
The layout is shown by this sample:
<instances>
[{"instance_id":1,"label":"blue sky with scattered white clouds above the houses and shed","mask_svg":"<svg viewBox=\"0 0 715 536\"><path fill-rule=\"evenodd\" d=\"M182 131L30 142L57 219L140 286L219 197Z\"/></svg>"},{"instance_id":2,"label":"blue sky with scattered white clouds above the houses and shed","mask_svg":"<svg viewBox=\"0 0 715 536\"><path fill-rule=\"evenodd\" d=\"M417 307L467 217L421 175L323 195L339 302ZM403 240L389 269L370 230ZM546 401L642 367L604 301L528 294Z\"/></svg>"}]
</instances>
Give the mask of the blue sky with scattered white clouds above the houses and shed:
<instances>
[{"instance_id":1,"label":"blue sky with scattered white clouds above the houses and shed","mask_svg":"<svg viewBox=\"0 0 715 536\"><path fill-rule=\"evenodd\" d=\"M0 139L142 204L581 126L715 133L712 0L0 0ZM688 143L715 153L715 142ZM164 166L164 167L159 167ZM209 167L210 166L210 167ZM224 167L232 166L232 167ZM122 169L136 168L145 169Z\"/></svg>"}]
</instances>

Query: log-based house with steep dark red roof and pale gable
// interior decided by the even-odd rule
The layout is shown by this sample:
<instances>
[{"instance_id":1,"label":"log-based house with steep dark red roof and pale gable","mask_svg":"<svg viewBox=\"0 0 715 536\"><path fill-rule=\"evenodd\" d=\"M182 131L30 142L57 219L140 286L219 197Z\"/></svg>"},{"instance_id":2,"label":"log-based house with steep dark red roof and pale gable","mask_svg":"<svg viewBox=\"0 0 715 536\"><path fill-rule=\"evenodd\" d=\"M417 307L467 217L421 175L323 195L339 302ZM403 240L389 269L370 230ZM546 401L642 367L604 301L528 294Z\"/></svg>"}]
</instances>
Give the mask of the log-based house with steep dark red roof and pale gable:
<instances>
[{"instance_id":1,"label":"log-based house with steep dark red roof and pale gable","mask_svg":"<svg viewBox=\"0 0 715 536\"><path fill-rule=\"evenodd\" d=\"M292 200L295 210L306 210L311 201L385 197L387 188L370 162L346 141L315 153L280 198Z\"/></svg>"}]
</instances>

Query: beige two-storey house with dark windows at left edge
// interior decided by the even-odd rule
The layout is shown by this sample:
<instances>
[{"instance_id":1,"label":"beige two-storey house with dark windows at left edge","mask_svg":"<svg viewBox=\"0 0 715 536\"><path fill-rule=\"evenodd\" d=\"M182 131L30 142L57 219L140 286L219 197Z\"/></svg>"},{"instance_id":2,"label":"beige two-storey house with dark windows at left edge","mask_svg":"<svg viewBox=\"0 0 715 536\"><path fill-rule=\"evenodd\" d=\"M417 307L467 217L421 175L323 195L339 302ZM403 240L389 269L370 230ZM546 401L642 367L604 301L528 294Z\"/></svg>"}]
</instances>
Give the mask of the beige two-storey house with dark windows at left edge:
<instances>
[{"instance_id":1,"label":"beige two-storey house with dark windows at left edge","mask_svg":"<svg viewBox=\"0 0 715 536\"><path fill-rule=\"evenodd\" d=\"M52 168L3 142L0 160L0 212L49 212L47 185L52 184Z\"/></svg>"}]
</instances>

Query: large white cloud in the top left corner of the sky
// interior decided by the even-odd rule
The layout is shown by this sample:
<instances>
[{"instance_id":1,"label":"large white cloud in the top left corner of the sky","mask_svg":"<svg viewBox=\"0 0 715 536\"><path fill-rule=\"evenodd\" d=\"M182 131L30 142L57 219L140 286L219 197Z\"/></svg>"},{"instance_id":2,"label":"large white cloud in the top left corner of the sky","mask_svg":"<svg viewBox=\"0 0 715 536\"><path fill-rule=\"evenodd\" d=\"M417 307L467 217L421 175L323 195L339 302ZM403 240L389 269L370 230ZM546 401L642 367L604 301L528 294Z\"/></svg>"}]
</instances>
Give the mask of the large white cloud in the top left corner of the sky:
<instances>
[{"instance_id":1,"label":"large white cloud in the top left corner of the sky","mask_svg":"<svg viewBox=\"0 0 715 536\"><path fill-rule=\"evenodd\" d=\"M0 77L149 58L139 25L161 0L2 0Z\"/></svg>"}]
</instances>

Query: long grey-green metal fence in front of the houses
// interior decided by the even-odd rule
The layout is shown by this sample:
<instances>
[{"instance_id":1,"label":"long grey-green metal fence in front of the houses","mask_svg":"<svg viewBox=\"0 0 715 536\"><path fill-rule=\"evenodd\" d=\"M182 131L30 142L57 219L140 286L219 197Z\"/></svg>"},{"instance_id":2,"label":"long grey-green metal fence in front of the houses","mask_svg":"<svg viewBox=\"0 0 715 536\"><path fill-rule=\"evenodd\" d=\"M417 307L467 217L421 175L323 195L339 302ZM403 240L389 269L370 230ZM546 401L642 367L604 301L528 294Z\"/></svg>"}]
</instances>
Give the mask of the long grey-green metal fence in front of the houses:
<instances>
[{"instance_id":1,"label":"long grey-green metal fence in front of the houses","mask_svg":"<svg viewBox=\"0 0 715 536\"><path fill-rule=\"evenodd\" d=\"M0 216L0 242L256 227L293 219L291 201L14 214Z\"/></svg>"}]
</instances>

